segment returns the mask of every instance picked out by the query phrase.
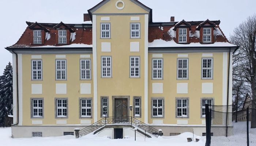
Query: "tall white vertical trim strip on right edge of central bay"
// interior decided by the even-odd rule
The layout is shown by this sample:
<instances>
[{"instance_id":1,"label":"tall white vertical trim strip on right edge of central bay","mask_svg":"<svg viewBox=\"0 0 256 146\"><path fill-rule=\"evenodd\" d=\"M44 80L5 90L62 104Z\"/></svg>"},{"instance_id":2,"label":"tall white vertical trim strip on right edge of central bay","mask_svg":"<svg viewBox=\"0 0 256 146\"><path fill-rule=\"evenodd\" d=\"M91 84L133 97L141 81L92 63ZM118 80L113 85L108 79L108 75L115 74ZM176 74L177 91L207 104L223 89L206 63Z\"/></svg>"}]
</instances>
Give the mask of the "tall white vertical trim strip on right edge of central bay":
<instances>
[{"instance_id":1,"label":"tall white vertical trim strip on right edge of central bay","mask_svg":"<svg viewBox=\"0 0 256 146\"><path fill-rule=\"evenodd\" d=\"M144 26L144 123L148 124L148 14Z\"/></svg>"}]
</instances>

